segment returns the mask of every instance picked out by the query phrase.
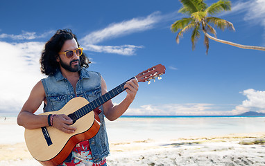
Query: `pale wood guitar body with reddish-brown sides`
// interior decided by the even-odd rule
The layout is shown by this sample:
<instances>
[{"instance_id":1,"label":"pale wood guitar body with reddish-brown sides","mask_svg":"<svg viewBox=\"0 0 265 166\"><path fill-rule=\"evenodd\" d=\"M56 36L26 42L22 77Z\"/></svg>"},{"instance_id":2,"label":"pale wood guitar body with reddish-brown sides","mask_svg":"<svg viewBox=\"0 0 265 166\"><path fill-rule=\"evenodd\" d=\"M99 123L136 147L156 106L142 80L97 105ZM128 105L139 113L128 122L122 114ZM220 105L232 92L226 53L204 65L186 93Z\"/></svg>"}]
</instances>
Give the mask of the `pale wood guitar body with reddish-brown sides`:
<instances>
[{"instance_id":1,"label":"pale wood guitar body with reddish-brown sides","mask_svg":"<svg viewBox=\"0 0 265 166\"><path fill-rule=\"evenodd\" d=\"M89 104L89 102L85 98L73 98L59 111L41 113L40 115L47 116L51 113L69 115L86 104ZM69 156L78 142L94 137L99 131L100 124L94 117L94 111L90 111L85 116L76 120L72 124L76 127L74 133L65 133L55 127L46 127L46 131L48 131L51 138L51 145L47 144L41 128L25 129L25 141L28 151L42 165L60 165Z\"/></svg>"}]
</instances>

